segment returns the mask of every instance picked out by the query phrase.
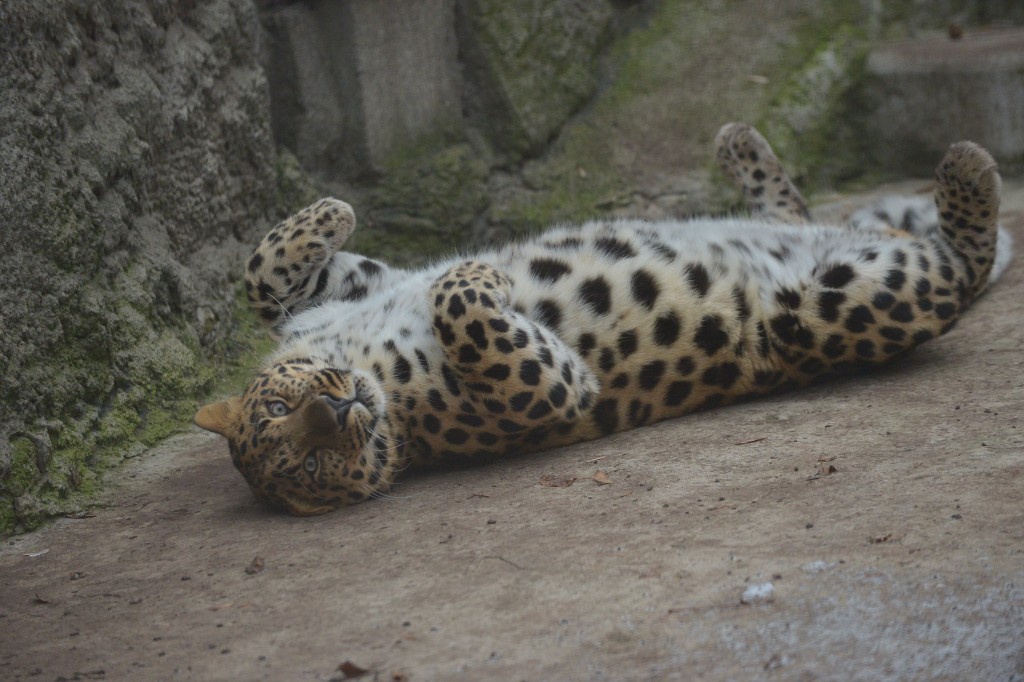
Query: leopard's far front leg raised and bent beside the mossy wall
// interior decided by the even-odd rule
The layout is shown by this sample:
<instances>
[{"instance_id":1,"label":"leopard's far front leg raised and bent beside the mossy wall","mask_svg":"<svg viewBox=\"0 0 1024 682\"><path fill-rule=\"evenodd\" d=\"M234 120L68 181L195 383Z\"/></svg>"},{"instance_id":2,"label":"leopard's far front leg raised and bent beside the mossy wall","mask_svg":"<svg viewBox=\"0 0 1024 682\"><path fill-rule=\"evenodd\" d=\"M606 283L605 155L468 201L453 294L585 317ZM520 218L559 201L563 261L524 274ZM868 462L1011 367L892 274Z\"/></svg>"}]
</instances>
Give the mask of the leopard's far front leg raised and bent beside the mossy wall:
<instances>
[{"instance_id":1,"label":"leopard's far front leg raised and bent beside the mossy wall","mask_svg":"<svg viewBox=\"0 0 1024 682\"><path fill-rule=\"evenodd\" d=\"M260 319L276 331L290 315L379 287L387 265L340 251L354 228L351 206L322 199L267 232L246 267L246 294Z\"/></svg>"}]
</instances>

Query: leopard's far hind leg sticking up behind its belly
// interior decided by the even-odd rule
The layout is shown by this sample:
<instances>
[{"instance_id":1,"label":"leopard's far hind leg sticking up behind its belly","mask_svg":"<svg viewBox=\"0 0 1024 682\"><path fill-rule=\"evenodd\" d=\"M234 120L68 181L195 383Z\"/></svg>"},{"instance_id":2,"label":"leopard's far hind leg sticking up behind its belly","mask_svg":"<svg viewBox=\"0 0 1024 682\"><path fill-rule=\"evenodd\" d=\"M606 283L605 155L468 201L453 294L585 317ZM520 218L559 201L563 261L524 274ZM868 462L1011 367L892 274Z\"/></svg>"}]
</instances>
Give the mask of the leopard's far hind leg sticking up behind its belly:
<instances>
[{"instance_id":1,"label":"leopard's far hind leg sticking up behind its belly","mask_svg":"<svg viewBox=\"0 0 1024 682\"><path fill-rule=\"evenodd\" d=\"M771 145L752 126L722 126L715 136L715 156L722 171L742 190L754 213L795 225L811 221L800 190L785 174Z\"/></svg>"}]
</instances>

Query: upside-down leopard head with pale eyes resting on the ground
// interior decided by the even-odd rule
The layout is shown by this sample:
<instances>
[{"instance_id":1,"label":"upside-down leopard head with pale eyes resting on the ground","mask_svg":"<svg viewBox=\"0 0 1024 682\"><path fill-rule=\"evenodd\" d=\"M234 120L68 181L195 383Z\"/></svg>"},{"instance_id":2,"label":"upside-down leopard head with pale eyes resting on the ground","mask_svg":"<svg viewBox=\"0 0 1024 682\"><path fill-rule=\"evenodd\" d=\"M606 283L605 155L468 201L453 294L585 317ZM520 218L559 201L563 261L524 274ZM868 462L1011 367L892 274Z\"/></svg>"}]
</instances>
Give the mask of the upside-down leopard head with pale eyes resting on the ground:
<instances>
[{"instance_id":1,"label":"upside-down leopard head with pale eyes resting on the ground","mask_svg":"<svg viewBox=\"0 0 1024 682\"><path fill-rule=\"evenodd\" d=\"M359 371L272 365L241 397L206 406L195 422L227 438L259 500L298 516L386 491L396 466L384 394Z\"/></svg>"}]
</instances>

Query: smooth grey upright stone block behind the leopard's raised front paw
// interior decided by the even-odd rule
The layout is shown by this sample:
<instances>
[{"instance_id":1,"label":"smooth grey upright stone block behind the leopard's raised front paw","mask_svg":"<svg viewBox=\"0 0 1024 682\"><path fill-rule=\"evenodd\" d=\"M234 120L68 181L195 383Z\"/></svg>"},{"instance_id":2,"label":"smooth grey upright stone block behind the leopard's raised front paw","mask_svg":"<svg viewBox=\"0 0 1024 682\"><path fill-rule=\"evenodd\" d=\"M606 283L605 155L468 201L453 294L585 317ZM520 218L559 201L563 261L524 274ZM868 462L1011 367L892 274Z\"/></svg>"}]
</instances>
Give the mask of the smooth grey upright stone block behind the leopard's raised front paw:
<instances>
[{"instance_id":1,"label":"smooth grey upright stone block behind the leopard's raised front paw","mask_svg":"<svg viewBox=\"0 0 1024 682\"><path fill-rule=\"evenodd\" d=\"M274 136L310 170L380 173L460 127L454 0L316 0L262 23Z\"/></svg>"}]
</instances>

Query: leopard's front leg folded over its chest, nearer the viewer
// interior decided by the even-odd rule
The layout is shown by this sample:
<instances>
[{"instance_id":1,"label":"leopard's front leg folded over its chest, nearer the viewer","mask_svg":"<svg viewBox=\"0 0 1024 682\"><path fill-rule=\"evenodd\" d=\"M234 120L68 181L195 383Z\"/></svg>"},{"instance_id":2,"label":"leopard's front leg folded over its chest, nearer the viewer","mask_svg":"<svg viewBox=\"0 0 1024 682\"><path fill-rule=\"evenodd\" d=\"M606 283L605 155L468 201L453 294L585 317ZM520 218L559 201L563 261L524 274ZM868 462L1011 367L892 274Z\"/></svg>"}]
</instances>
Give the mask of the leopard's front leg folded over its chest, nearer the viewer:
<instances>
[{"instance_id":1,"label":"leopard's front leg folded over its chest, nearer the viewer","mask_svg":"<svg viewBox=\"0 0 1024 682\"><path fill-rule=\"evenodd\" d=\"M598 384L586 363L546 326L508 305L511 281L477 261L456 265L430 289L434 336L451 372L449 390L467 390L509 433L570 423Z\"/></svg>"}]
</instances>

